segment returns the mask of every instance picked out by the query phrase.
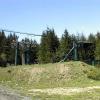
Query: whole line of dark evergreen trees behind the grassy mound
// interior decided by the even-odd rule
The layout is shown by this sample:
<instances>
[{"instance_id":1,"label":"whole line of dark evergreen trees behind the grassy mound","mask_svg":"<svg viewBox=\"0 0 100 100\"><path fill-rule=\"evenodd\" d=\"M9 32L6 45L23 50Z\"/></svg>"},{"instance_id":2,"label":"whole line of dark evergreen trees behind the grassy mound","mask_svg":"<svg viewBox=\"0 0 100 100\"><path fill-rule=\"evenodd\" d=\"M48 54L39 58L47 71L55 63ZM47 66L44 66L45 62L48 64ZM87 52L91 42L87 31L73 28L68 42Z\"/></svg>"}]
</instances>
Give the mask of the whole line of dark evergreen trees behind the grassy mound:
<instances>
[{"instance_id":1,"label":"whole line of dark evergreen trees behind the grassy mound","mask_svg":"<svg viewBox=\"0 0 100 100\"><path fill-rule=\"evenodd\" d=\"M18 41L16 48L17 36L15 34L5 35L0 32L0 64L15 64L17 49L17 64L34 64L34 63L55 63L65 57L73 46L73 41L87 41L95 44L95 59L100 60L100 33L90 33L88 37L84 34L70 34L67 29L64 30L62 37L59 39L52 28L47 28L42 32L40 43L28 38ZM73 55L73 54L72 54ZM70 59L71 56L70 55ZM81 54L84 56L84 53Z\"/></svg>"}]
</instances>

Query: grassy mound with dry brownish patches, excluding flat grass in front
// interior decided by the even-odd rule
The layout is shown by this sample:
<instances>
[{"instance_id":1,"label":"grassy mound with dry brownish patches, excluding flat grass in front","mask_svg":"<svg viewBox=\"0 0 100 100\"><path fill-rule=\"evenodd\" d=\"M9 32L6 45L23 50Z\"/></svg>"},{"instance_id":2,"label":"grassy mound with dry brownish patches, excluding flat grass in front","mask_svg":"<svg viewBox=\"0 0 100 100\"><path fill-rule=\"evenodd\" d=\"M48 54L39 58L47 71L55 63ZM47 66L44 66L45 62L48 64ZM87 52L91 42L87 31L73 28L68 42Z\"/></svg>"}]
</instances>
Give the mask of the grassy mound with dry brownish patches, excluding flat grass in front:
<instances>
[{"instance_id":1,"label":"grassy mound with dry brownish patches, excluding flat grass in front","mask_svg":"<svg viewBox=\"0 0 100 100\"><path fill-rule=\"evenodd\" d=\"M55 64L27 65L1 69L1 82L35 85L40 87L63 86L69 81L87 80L84 70L91 67L83 62L65 62ZM9 83L11 84L11 83ZM42 86L43 85L43 86ZM69 84L68 84L69 85Z\"/></svg>"}]
</instances>

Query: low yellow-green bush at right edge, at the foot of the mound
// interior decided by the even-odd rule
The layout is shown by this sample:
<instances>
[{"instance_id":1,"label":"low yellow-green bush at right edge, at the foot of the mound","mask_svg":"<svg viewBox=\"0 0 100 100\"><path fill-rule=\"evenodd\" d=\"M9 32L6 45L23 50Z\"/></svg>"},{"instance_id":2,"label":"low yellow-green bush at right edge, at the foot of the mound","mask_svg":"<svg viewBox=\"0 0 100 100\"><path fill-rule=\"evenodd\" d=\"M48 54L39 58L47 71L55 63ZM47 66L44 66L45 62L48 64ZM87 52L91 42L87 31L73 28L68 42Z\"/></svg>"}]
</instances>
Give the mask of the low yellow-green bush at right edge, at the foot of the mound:
<instances>
[{"instance_id":1,"label":"low yellow-green bush at right edge, at the foot of the mound","mask_svg":"<svg viewBox=\"0 0 100 100\"><path fill-rule=\"evenodd\" d=\"M90 70L86 71L86 74L88 78L100 80L100 68L91 68Z\"/></svg>"}]
</instances>

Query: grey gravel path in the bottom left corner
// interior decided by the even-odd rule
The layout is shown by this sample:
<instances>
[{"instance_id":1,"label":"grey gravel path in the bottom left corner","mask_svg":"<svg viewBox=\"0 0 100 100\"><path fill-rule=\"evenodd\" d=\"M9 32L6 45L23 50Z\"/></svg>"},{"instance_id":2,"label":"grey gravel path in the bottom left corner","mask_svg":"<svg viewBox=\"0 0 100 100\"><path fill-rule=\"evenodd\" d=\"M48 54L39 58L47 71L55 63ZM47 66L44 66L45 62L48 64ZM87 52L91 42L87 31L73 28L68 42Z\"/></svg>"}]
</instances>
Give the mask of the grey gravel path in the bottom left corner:
<instances>
[{"instance_id":1,"label":"grey gravel path in the bottom left corner","mask_svg":"<svg viewBox=\"0 0 100 100\"><path fill-rule=\"evenodd\" d=\"M0 100L31 100L31 98L21 96L13 90L0 86Z\"/></svg>"}]
</instances>

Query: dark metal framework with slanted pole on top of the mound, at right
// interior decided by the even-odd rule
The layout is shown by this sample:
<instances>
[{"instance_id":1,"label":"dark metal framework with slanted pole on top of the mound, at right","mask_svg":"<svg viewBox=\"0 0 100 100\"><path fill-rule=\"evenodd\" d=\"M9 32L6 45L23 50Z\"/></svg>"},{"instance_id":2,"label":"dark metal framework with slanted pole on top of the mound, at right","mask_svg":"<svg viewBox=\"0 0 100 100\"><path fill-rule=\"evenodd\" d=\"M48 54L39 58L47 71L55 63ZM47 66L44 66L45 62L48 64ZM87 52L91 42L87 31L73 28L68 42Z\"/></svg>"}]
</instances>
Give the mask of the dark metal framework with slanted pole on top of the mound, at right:
<instances>
[{"instance_id":1,"label":"dark metal framework with slanted pole on top of the mound, at right","mask_svg":"<svg viewBox=\"0 0 100 100\"><path fill-rule=\"evenodd\" d=\"M87 55L87 53L90 52L89 50L91 51L91 54ZM67 60L70 54L73 53L73 60L75 61L82 60L84 62L94 65L94 61L95 61L94 50L95 50L94 43L86 42L86 41L78 41L77 43L75 43L75 41L73 41L73 47L70 49L70 51L67 54L65 54L64 59L61 60L60 62ZM81 54L84 53L84 55L81 56L79 52Z\"/></svg>"}]
</instances>

